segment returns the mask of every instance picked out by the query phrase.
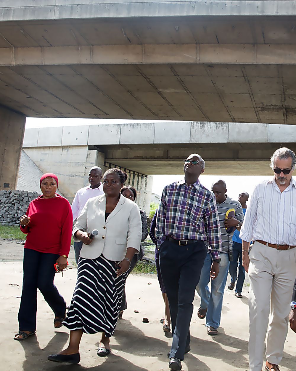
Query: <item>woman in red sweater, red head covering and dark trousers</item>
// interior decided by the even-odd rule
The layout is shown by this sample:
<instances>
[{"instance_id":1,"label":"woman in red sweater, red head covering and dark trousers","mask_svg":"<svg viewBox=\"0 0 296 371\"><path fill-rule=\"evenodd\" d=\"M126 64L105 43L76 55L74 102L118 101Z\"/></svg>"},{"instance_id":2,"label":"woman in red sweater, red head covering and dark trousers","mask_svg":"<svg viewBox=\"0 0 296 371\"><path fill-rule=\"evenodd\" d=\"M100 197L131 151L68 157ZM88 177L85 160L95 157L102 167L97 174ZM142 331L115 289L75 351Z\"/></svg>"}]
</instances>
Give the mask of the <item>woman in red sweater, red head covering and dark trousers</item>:
<instances>
[{"instance_id":1,"label":"woman in red sweater, red head covering and dark trousers","mask_svg":"<svg viewBox=\"0 0 296 371\"><path fill-rule=\"evenodd\" d=\"M59 270L67 266L73 217L69 201L56 194L58 185L56 175L44 174L40 179L42 196L33 200L26 215L20 218L20 229L27 239L19 332L15 340L24 340L36 332L37 288L55 314L55 328L61 327L66 316L66 302L53 284L54 264L58 263Z\"/></svg>"}]
</instances>

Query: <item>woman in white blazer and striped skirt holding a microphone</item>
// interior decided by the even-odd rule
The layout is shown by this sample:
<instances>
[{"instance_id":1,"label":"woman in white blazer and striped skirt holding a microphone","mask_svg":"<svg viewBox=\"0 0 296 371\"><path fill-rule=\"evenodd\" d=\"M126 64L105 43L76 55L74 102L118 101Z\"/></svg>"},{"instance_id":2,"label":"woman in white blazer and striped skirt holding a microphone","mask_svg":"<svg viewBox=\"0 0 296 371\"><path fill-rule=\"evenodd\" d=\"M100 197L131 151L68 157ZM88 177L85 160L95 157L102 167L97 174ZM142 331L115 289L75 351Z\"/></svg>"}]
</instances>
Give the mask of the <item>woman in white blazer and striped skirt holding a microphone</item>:
<instances>
[{"instance_id":1,"label":"woman in white blazer and striped skirt holding a microphone","mask_svg":"<svg viewBox=\"0 0 296 371\"><path fill-rule=\"evenodd\" d=\"M49 361L79 363L82 334L102 332L97 355L110 353L127 270L140 250L142 221L139 207L123 197L124 171L112 168L103 177L104 194L90 198L73 229L74 241L82 241L77 282L63 325L71 330L68 347L47 357ZM93 229L99 234L90 239Z\"/></svg>"}]
</instances>

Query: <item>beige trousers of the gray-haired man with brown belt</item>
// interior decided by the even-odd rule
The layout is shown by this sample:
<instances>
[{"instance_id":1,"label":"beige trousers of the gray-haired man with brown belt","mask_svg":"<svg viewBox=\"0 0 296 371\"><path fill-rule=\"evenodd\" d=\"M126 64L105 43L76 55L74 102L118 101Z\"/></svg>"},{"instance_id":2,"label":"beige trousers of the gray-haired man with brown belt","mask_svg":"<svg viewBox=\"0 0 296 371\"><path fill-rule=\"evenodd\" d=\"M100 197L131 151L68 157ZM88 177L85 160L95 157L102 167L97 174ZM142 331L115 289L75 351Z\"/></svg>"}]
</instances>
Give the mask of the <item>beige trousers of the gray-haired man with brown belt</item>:
<instances>
[{"instance_id":1,"label":"beige trousers of the gray-haired man with brown belt","mask_svg":"<svg viewBox=\"0 0 296 371\"><path fill-rule=\"evenodd\" d=\"M295 277L296 247L277 250L254 243L249 265L250 371L262 370L267 327L267 361L278 365L283 358Z\"/></svg>"}]
</instances>

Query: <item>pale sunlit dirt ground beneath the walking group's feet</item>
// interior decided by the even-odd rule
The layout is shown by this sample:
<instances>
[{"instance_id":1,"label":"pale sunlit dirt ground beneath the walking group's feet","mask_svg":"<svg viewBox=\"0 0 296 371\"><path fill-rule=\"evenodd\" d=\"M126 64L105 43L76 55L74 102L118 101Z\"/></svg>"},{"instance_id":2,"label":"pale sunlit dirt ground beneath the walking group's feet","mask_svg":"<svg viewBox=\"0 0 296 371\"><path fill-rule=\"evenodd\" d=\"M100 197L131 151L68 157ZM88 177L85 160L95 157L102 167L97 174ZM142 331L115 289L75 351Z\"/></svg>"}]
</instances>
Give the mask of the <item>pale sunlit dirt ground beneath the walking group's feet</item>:
<instances>
[{"instance_id":1,"label":"pale sunlit dirt ground beneath the walking group's feet","mask_svg":"<svg viewBox=\"0 0 296 371\"><path fill-rule=\"evenodd\" d=\"M128 309L120 319L111 339L112 354L106 358L97 357L100 334L83 335L79 365L56 364L47 361L47 355L64 348L69 339L69 330L53 327L53 313L38 293L37 333L25 341L13 340L18 329L23 246L15 242L0 241L0 370L24 371L160 371L169 370L167 352L170 349L171 334L162 331L160 318L163 302L156 275L130 275L127 279ZM73 256L73 255L72 255ZM14 261L16 260L16 261ZM76 268L59 273L55 283L67 303L71 300L76 282ZM148 285L151 283L151 285ZM228 285L228 283L227 283ZM199 297L194 301L191 322L191 351L185 355L183 370L189 371L234 371L248 370L248 287L243 299L237 299L226 289L219 335L206 334L204 321L197 318ZM139 313L134 313L134 310ZM142 323L143 317L149 323ZM281 371L295 369L296 334L289 330L282 360Z\"/></svg>"}]
</instances>

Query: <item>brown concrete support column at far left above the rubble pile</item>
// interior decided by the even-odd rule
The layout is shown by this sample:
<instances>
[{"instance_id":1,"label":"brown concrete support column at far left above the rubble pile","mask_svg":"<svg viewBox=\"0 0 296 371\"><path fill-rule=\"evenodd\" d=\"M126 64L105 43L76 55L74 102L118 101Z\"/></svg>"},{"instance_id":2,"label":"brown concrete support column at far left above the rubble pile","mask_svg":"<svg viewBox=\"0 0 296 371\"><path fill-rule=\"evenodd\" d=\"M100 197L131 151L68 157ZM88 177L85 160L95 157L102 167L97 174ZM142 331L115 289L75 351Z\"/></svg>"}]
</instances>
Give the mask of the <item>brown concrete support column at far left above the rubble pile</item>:
<instances>
[{"instance_id":1,"label":"brown concrete support column at far left above the rubble pile","mask_svg":"<svg viewBox=\"0 0 296 371\"><path fill-rule=\"evenodd\" d=\"M0 189L15 189L26 116L0 106Z\"/></svg>"}]
</instances>

